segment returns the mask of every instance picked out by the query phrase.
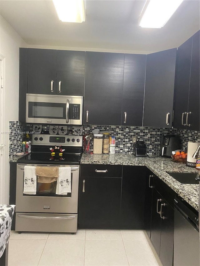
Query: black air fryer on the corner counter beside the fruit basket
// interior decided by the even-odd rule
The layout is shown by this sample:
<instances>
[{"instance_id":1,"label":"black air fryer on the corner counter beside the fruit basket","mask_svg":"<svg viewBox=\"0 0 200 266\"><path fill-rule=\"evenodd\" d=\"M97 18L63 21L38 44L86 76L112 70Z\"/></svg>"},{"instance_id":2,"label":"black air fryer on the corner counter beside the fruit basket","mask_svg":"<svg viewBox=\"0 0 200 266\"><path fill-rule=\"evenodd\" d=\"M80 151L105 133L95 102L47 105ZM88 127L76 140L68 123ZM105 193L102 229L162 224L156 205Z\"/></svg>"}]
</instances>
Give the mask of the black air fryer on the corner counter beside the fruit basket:
<instances>
[{"instance_id":1,"label":"black air fryer on the corner counter beside the fruit basket","mask_svg":"<svg viewBox=\"0 0 200 266\"><path fill-rule=\"evenodd\" d=\"M172 151L181 149L181 140L178 135L164 135L160 143L160 155L170 158Z\"/></svg>"}]
</instances>

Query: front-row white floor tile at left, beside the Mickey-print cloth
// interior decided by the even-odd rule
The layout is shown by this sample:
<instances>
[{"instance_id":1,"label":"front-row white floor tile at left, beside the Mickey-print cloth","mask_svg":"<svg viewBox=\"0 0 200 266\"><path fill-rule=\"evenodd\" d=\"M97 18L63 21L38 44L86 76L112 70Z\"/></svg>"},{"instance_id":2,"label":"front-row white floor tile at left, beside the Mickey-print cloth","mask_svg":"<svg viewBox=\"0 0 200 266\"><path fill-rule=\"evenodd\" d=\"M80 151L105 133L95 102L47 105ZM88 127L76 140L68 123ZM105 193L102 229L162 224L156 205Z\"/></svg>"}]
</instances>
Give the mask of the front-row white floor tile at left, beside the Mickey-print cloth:
<instances>
[{"instance_id":1,"label":"front-row white floor tile at left, beside the Mickey-print cloth","mask_svg":"<svg viewBox=\"0 0 200 266\"><path fill-rule=\"evenodd\" d=\"M38 265L45 243L46 240L10 239L8 245L8 265Z\"/></svg>"}]
</instances>

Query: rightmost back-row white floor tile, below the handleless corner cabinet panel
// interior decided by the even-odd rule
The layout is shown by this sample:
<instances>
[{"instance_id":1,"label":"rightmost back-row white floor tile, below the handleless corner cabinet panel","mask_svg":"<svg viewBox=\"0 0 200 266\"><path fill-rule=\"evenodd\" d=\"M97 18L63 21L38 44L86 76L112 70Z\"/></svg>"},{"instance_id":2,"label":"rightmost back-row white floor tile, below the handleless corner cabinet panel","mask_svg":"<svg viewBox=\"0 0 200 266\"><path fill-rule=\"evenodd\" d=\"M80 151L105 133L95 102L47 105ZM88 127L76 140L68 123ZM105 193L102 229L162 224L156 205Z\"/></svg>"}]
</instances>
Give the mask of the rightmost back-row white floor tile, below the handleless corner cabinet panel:
<instances>
[{"instance_id":1,"label":"rightmost back-row white floor tile, below the handleless corner cabinet panel","mask_svg":"<svg viewBox=\"0 0 200 266\"><path fill-rule=\"evenodd\" d=\"M150 241L145 230L121 230L123 240Z\"/></svg>"}]
</instances>

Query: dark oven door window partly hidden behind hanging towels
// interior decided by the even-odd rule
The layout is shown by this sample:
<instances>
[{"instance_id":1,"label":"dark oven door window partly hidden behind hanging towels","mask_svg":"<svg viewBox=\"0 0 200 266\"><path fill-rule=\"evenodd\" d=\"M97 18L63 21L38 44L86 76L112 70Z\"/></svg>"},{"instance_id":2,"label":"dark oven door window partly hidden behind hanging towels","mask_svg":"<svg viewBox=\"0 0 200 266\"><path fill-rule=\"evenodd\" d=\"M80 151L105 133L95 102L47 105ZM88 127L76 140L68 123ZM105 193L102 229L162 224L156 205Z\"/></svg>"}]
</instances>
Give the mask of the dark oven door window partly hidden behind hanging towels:
<instances>
[{"instance_id":1,"label":"dark oven door window partly hidden behind hanging towels","mask_svg":"<svg viewBox=\"0 0 200 266\"><path fill-rule=\"evenodd\" d=\"M71 191L72 191L73 177L71 174ZM36 194L24 194L24 196L39 196L39 197L71 197L72 193L67 193L67 195L58 195L56 194L57 181L42 183L40 180L38 182L37 177L37 189Z\"/></svg>"}]
</instances>

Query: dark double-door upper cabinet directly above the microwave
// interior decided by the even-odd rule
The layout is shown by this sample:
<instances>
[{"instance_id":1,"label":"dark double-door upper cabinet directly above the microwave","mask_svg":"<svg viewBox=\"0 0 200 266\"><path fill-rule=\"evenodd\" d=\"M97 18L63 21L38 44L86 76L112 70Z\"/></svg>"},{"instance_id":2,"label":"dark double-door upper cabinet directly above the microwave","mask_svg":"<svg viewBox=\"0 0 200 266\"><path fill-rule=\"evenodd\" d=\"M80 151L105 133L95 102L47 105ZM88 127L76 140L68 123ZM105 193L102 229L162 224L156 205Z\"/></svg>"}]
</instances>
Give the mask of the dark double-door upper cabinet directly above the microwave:
<instances>
[{"instance_id":1,"label":"dark double-door upper cabinet directly above the microwave","mask_svg":"<svg viewBox=\"0 0 200 266\"><path fill-rule=\"evenodd\" d=\"M83 96L84 75L84 51L28 48L28 93Z\"/></svg>"}]
</instances>

